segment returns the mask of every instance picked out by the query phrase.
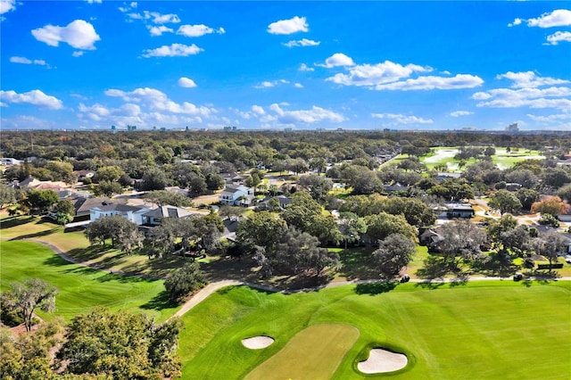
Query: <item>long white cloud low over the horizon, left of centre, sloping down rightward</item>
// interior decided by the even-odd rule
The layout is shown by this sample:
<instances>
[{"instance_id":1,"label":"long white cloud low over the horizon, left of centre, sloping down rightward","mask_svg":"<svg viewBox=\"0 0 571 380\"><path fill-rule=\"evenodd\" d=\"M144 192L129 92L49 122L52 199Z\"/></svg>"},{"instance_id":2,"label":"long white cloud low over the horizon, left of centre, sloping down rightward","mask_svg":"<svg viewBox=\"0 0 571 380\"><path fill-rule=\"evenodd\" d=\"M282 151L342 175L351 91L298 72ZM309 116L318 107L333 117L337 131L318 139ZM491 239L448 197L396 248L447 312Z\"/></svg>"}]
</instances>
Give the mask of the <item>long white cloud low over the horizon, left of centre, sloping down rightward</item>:
<instances>
[{"instance_id":1,"label":"long white cloud low over the horizon, left of centre, sloping down rightward","mask_svg":"<svg viewBox=\"0 0 571 380\"><path fill-rule=\"evenodd\" d=\"M181 113L186 115L200 115L209 116L211 113L216 112L215 109L196 106L193 103L176 103L169 99L163 92L154 88L136 88L133 91L125 92L116 89L109 89L105 91L107 96L115 96L122 98L128 103L141 103L149 106L153 111Z\"/></svg>"}]
</instances>

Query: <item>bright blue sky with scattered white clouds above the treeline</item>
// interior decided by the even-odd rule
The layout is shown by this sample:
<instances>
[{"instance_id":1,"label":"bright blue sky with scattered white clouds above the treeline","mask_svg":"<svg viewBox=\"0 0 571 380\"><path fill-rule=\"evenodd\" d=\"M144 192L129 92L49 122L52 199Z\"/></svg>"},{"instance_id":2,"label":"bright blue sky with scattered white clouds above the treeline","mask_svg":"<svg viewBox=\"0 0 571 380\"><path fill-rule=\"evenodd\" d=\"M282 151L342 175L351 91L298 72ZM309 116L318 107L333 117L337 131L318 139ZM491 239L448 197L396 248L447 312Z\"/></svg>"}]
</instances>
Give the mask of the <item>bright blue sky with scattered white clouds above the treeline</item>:
<instances>
[{"instance_id":1,"label":"bright blue sky with scattered white clouds above the treeline","mask_svg":"<svg viewBox=\"0 0 571 380\"><path fill-rule=\"evenodd\" d=\"M571 131L571 2L1 0L2 128Z\"/></svg>"}]
</instances>

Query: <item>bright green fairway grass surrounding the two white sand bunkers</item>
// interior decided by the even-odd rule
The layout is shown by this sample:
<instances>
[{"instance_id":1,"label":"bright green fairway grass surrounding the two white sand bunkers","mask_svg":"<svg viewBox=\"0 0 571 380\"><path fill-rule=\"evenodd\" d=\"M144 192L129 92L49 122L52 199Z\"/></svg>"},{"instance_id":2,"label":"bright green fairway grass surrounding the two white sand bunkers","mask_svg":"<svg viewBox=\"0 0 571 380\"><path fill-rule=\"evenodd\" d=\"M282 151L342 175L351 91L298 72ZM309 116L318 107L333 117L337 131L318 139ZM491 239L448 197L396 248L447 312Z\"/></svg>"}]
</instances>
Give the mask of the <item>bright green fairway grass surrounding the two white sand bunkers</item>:
<instances>
[{"instance_id":1,"label":"bright green fairway grass surrounding the two white sand bunkers","mask_svg":"<svg viewBox=\"0 0 571 380\"><path fill-rule=\"evenodd\" d=\"M288 295L245 286L222 289L183 317L182 378L256 375L262 363L297 346L296 335L323 324L354 326L359 338L333 375L329 364L319 367L326 355L313 363L322 372L301 378L383 377L356 369L371 347L394 348L412 360L392 379L561 379L571 373L571 282L408 283L390 289L345 285ZM254 335L276 341L262 350L246 349L241 340ZM273 373L288 376L288 368L310 366L310 354L298 350L298 359L285 368L274 361Z\"/></svg>"}]
</instances>

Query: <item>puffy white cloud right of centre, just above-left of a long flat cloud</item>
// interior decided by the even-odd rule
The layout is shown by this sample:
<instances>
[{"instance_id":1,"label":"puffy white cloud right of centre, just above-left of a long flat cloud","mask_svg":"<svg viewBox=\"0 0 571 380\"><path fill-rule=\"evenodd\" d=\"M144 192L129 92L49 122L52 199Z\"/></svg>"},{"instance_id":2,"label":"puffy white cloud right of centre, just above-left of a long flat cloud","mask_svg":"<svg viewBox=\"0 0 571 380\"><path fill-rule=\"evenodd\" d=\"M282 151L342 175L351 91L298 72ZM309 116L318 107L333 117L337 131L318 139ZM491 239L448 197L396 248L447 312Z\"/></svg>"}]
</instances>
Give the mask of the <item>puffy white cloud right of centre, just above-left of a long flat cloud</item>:
<instances>
[{"instance_id":1,"label":"puffy white cloud right of centre, just above-left of a long flat cloud","mask_svg":"<svg viewBox=\"0 0 571 380\"><path fill-rule=\"evenodd\" d=\"M414 72L427 72L431 70L431 68L425 68L415 64L402 66L399 63L385 61L375 65L362 64L353 66L349 69L348 74L338 73L326 80L344 86L372 87L395 82L401 78L408 78Z\"/></svg>"}]
</instances>

